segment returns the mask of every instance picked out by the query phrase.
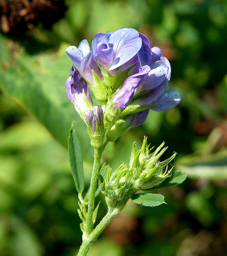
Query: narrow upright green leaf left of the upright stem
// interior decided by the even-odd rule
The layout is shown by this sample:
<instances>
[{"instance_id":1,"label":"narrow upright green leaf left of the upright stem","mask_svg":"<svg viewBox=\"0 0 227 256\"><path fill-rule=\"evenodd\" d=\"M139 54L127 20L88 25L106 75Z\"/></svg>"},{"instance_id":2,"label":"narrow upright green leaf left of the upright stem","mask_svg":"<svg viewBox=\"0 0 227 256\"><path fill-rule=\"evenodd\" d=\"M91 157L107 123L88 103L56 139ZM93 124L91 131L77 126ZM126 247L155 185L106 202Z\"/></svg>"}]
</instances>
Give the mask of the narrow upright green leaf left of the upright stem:
<instances>
[{"instance_id":1,"label":"narrow upright green leaf left of the upright stem","mask_svg":"<svg viewBox=\"0 0 227 256\"><path fill-rule=\"evenodd\" d=\"M68 151L69 151L69 160L72 168L73 179L77 192L83 192L84 190L84 180L83 180L83 160L81 156L81 149L79 145L79 140L73 128L69 130L68 138Z\"/></svg>"}]
</instances>

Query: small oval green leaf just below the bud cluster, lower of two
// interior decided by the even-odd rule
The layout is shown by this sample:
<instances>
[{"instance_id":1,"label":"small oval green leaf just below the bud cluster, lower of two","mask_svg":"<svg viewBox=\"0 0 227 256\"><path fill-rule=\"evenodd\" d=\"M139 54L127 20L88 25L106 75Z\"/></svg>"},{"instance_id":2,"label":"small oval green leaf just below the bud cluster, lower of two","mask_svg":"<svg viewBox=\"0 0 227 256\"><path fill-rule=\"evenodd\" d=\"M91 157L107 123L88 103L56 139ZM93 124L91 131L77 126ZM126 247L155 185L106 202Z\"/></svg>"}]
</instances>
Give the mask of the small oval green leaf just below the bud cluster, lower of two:
<instances>
[{"instance_id":1,"label":"small oval green leaf just below the bud cluster, lower of two","mask_svg":"<svg viewBox=\"0 0 227 256\"><path fill-rule=\"evenodd\" d=\"M133 194L131 199L136 203L143 206L159 206L160 204L166 204L164 196L160 194Z\"/></svg>"}]
</instances>

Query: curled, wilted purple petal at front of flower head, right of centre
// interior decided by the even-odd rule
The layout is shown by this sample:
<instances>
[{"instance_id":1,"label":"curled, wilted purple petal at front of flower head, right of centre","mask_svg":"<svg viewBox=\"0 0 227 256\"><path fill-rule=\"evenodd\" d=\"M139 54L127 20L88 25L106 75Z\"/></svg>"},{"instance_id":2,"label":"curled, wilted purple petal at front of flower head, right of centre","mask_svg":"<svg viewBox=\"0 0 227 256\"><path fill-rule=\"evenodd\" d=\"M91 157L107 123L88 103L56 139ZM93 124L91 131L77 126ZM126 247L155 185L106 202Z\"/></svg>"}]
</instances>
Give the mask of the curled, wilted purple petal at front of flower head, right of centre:
<instances>
[{"instance_id":1,"label":"curled, wilted purple petal at front of flower head, right of centre","mask_svg":"<svg viewBox=\"0 0 227 256\"><path fill-rule=\"evenodd\" d=\"M150 71L149 66L143 66L140 68L138 74L134 74L126 78L121 88L116 92L113 96L112 103L116 102L113 106L115 109L120 107L120 109L126 108L128 104L131 102L138 86L144 79L144 76Z\"/></svg>"}]
</instances>

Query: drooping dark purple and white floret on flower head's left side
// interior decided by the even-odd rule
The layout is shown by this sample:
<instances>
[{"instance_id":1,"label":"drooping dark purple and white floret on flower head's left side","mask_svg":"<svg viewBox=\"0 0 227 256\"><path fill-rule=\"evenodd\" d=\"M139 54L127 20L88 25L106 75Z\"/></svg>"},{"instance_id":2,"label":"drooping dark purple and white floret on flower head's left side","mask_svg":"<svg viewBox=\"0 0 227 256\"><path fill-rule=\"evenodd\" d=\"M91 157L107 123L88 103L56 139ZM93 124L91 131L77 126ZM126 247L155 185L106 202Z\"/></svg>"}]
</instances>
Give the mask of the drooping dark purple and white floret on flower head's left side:
<instances>
[{"instance_id":1,"label":"drooping dark purple and white floret on flower head's left side","mask_svg":"<svg viewBox=\"0 0 227 256\"><path fill-rule=\"evenodd\" d=\"M73 65L71 66L70 76L65 84L68 98L74 104L79 114L93 106L88 84ZM81 116L83 117L83 115Z\"/></svg>"}]
</instances>

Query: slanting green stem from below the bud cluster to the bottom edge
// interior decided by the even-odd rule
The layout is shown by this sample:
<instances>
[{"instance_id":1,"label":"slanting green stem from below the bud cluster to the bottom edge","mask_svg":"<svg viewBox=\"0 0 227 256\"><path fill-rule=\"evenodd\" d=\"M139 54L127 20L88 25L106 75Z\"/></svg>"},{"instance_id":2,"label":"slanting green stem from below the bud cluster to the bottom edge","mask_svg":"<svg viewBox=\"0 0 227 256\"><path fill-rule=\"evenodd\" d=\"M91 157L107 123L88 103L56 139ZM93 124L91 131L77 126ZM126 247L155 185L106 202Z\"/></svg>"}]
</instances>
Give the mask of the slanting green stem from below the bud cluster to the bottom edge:
<instances>
[{"instance_id":1,"label":"slanting green stem from below the bud cluster to the bottom edge","mask_svg":"<svg viewBox=\"0 0 227 256\"><path fill-rule=\"evenodd\" d=\"M87 255L87 252L91 248L93 242L97 239L99 234L104 230L109 222L120 212L120 210L121 208L115 208L107 212L105 217L101 220L101 222L99 222L91 234L85 240L83 240L77 256Z\"/></svg>"}]
</instances>

